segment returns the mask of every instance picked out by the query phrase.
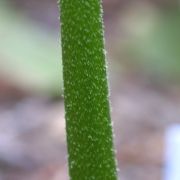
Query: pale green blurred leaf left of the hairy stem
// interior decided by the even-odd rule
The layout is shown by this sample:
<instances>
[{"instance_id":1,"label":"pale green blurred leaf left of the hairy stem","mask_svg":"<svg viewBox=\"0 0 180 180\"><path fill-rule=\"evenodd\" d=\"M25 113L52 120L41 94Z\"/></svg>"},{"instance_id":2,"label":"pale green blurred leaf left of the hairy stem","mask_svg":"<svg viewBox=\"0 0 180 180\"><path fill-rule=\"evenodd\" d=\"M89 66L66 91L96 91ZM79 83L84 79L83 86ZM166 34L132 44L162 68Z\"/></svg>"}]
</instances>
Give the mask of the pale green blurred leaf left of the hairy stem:
<instances>
[{"instance_id":1,"label":"pale green blurred leaf left of the hairy stem","mask_svg":"<svg viewBox=\"0 0 180 180\"><path fill-rule=\"evenodd\" d=\"M45 95L62 91L58 37L0 2L0 76Z\"/></svg>"}]
</instances>

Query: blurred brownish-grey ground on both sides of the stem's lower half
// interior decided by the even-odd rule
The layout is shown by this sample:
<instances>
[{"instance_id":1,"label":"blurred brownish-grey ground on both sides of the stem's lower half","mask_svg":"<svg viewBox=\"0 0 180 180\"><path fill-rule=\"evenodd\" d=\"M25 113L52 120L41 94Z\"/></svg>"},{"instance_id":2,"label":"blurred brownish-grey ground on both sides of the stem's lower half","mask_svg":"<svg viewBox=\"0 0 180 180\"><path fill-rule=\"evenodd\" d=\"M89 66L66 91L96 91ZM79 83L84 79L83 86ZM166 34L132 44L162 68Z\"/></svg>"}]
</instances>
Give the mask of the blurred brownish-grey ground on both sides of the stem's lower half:
<instances>
[{"instance_id":1,"label":"blurred brownish-grey ground on both sides of the stem's lower half","mask_svg":"<svg viewBox=\"0 0 180 180\"><path fill-rule=\"evenodd\" d=\"M127 78L118 83L111 102L121 179L160 180L164 133L179 122L180 97ZM63 102L23 98L0 111L1 179L67 180Z\"/></svg>"}]
</instances>

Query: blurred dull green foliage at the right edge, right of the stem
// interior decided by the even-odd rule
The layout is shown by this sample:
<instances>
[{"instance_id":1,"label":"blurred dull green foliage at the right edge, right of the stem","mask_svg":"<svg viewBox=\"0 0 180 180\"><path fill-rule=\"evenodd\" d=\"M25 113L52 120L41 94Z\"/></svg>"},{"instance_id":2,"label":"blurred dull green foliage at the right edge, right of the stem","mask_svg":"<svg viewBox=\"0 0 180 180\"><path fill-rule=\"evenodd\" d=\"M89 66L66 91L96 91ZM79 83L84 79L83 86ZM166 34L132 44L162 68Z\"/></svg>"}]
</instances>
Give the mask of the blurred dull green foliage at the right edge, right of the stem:
<instances>
[{"instance_id":1,"label":"blurred dull green foliage at the right edge, right of the stem","mask_svg":"<svg viewBox=\"0 0 180 180\"><path fill-rule=\"evenodd\" d=\"M146 35L131 41L131 56L146 73L165 81L180 78L180 11L164 10Z\"/></svg>"}]
</instances>

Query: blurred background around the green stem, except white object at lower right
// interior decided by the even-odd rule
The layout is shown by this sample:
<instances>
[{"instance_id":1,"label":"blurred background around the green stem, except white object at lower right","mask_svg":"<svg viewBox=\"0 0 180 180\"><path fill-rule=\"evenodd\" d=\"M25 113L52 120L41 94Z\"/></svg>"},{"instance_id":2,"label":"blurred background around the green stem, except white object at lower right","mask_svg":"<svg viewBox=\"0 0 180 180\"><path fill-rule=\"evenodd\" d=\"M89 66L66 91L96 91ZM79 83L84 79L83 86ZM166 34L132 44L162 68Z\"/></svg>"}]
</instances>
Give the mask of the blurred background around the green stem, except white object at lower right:
<instances>
[{"instance_id":1,"label":"blurred background around the green stem, except white object at lower right","mask_svg":"<svg viewBox=\"0 0 180 180\"><path fill-rule=\"evenodd\" d=\"M163 179L180 122L179 0L104 0L122 180ZM0 0L0 180L67 180L56 0Z\"/></svg>"}]
</instances>

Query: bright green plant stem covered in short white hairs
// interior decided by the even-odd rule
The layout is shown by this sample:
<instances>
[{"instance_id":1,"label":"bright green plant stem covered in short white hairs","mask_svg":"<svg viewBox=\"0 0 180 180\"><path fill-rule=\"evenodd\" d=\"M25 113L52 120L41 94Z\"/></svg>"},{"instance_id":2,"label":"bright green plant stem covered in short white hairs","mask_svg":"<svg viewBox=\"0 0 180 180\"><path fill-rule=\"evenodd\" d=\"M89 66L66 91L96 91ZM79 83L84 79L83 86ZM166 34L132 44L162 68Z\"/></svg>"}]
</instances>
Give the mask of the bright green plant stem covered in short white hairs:
<instances>
[{"instance_id":1,"label":"bright green plant stem covered in short white hairs","mask_svg":"<svg viewBox=\"0 0 180 180\"><path fill-rule=\"evenodd\" d=\"M59 3L70 178L115 180L101 1Z\"/></svg>"}]
</instances>

